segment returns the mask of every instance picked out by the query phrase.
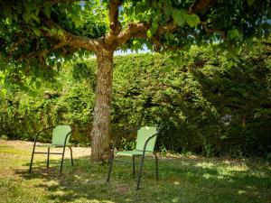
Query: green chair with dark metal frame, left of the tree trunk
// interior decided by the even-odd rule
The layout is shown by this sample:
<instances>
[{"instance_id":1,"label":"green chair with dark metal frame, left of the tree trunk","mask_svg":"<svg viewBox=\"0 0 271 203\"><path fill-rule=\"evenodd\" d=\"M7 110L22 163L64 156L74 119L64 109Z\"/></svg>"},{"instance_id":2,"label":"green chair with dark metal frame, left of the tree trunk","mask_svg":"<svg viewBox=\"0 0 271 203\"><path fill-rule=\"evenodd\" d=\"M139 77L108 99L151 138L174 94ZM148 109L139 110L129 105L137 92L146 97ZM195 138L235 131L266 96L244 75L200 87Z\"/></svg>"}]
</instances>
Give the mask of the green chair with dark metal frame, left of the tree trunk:
<instances>
[{"instance_id":1,"label":"green chair with dark metal frame, left of the tree trunk","mask_svg":"<svg viewBox=\"0 0 271 203\"><path fill-rule=\"evenodd\" d=\"M42 132L45 132L45 131L50 130L50 129L52 129L51 143L48 143L48 144L36 144L37 140L38 140L38 136ZM51 126L51 127L43 129L38 134L36 134L34 144L33 144L33 152L32 152L32 157L31 157L31 161L30 161L29 172L32 171L33 154L34 153L45 153L45 154L47 154L47 168L49 168L49 156L50 156L50 154L61 154L62 155L61 170L60 170L60 172L61 172L62 167L63 167L63 160L64 160L64 154L65 154L66 146L70 148L70 161L71 161L71 166L73 166L72 150L71 150L71 147L68 145L69 140L70 140L70 134L71 134L70 125ZM35 152L36 147L47 147L48 151L47 152ZM50 152L51 148L59 148L59 147L63 148L62 152Z\"/></svg>"}]
</instances>

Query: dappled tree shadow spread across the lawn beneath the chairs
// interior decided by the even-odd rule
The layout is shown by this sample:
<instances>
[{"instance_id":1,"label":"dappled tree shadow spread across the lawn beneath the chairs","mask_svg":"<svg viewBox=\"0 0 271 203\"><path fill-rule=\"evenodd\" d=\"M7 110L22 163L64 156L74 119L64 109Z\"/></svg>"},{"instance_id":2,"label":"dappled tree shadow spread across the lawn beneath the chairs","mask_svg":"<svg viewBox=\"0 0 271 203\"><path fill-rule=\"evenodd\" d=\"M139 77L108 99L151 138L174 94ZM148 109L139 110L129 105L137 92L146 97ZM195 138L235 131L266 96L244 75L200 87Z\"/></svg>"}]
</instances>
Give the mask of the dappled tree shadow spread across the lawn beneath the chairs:
<instances>
[{"instance_id":1,"label":"dappled tree shadow spread across the lawn beneath the chairs","mask_svg":"<svg viewBox=\"0 0 271 203\"><path fill-rule=\"evenodd\" d=\"M61 176L61 161L55 160L49 169L44 161L35 161L32 173L16 173L25 180L42 180L36 187L46 189L47 198L58 202L269 202L271 199L269 165L263 171L219 159L162 159L160 180L155 181L154 160L146 159L143 189L135 190L132 162L126 158L120 160L114 163L109 183L107 164L91 162L89 157L74 159L74 167L70 166L70 160L65 160ZM139 166L139 160L136 163Z\"/></svg>"}]
</instances>

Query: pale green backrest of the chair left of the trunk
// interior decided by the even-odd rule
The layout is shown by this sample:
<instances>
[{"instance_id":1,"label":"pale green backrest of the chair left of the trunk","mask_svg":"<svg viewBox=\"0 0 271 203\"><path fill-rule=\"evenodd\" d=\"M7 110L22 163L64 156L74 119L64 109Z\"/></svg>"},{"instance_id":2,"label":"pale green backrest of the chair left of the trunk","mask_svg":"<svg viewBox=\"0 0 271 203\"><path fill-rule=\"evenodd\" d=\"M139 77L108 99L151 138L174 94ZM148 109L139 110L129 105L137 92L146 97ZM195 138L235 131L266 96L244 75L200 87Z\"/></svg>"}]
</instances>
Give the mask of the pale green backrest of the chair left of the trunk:
<instances>
[{"instance_id":1,"label":"pale green backrest of the chair left of the trunk","mask_svg":"<svg viewBox=\"0 0 271 203\"><path fill-rule=\"evenodd\" d=\"M66 140L67 145L70 140L70 132L71 132L70 125L57 125L52 130L51 144L64 145L65 138L67 134L69 134Z\"/></svg>"}]
</instances>

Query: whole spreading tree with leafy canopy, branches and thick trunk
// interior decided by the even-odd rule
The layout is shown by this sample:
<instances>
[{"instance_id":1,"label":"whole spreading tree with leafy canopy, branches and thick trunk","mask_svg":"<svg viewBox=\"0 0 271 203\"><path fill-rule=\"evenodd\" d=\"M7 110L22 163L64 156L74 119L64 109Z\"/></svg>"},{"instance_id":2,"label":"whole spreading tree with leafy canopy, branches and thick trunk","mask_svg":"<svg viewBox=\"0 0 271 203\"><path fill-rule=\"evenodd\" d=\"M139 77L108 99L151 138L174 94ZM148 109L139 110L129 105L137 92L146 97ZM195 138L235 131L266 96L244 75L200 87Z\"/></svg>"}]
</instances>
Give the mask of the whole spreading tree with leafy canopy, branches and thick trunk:
<instances>
[{"instance_id":1,"label":"whole spreading tree with leafy canopy, branches and thick trunk","mask_svg":"<svg viewBox=\"0 0 271 203\"><path fill-rule=\"evenodd\" d=\"M9 81L37 69L51 78L53 65L74 52L97 55L94 161L109 150L114 51L186 51L215 42L232 53L270 32L269 0L0 0L0 11L0 65L12 69Z\"/></svg>"}]
</instances>

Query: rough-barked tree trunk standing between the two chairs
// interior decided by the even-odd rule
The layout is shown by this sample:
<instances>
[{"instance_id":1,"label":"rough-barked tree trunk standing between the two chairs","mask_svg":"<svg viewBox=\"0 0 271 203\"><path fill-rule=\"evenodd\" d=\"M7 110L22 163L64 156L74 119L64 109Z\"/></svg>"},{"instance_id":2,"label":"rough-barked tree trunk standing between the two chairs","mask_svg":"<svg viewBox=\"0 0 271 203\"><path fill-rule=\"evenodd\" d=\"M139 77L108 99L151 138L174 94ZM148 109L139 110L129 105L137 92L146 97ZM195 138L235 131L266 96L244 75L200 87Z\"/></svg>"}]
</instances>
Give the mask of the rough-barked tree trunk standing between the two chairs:
<instances>
[{"instance_id":1,"label":"rough-barked tree trunk standing between the two chairs","mask_svg":"<svg viewBox=\"0 0 271 203\"><path fill-rule=\"evenodd\" d=\"M100 49L97 54L96 102L91 132L92 161L103 161L109 152L113 53L114 51Z\"/></svg>"}]
</instances>

